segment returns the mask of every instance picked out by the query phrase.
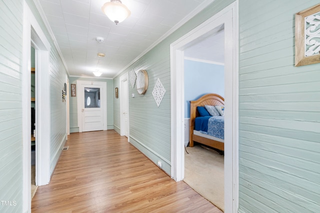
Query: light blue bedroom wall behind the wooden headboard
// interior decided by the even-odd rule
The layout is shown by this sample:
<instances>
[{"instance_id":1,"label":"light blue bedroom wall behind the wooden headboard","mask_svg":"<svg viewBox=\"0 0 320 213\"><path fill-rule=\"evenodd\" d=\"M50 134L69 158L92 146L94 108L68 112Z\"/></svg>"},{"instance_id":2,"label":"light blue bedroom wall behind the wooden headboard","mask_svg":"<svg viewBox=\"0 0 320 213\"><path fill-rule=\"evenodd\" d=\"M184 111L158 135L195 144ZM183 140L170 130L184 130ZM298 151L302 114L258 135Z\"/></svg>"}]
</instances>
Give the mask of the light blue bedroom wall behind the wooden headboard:
<instances>
[{"instance_id":1,"label":"light blue bedroom wall behind the wooden headboard","mask_svg":"<svg viewBox=\"0 0 320 213\"><path fill-rule=\"evenodd\" d=\"M184 118L190 118L190 101L207 93L224 97L224 66L184 60Z\"/></svg>"}]
</instances>

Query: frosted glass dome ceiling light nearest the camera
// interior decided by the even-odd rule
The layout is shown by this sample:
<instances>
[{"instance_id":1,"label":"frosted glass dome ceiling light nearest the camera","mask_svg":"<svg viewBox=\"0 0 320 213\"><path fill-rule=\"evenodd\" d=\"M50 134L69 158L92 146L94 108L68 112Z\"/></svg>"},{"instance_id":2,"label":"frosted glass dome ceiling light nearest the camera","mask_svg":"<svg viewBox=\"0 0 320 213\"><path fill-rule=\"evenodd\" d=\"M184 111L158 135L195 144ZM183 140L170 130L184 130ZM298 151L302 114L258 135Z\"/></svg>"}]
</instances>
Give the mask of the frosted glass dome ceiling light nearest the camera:
<instances>
[{"instance_id":1,"label":"frosted glass dome ceiling light nearest the camera","mask_svg":"<svg viewBox=\"0 0 320 213\"><path fill-rule=\"evenodd\" d=\"M130 10L120 0L106 2L101 9L115 24L120 23L131 14Z\"/></svg>"}]
</instances>

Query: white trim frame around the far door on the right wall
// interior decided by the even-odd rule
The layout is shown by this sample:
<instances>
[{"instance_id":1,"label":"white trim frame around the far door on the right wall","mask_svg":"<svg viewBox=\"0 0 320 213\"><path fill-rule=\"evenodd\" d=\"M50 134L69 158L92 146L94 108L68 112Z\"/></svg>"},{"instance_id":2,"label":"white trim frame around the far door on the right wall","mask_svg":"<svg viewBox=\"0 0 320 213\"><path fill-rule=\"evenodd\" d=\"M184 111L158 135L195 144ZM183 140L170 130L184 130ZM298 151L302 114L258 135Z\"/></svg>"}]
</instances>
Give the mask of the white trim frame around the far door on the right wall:
<instances>
[{"instance_id":1,"label":"white trim frame around the far door on the right wall","mask_svg":"<svg viewBox=\"0 0 320 213\"><path fill-rule=\"evenodd\" d=\"M124 81L126 81L127 83L129 82L129 74L128 72L125 73L124 75L121 75L119 78L119 83L120 83L120 136L124 136L125 135L125 121L124 121L124 116L123 116L123 106L124 104L128 105L129 108L129 91L127 91L128 96L124 97L124 92L123 92L123 84ZM127 86L128 90L129 90L129 85ZM129 110L128 110L128 122L127 122L127 130L128 130L128 142L129 142Z\"/></svg>"}]
</instances>

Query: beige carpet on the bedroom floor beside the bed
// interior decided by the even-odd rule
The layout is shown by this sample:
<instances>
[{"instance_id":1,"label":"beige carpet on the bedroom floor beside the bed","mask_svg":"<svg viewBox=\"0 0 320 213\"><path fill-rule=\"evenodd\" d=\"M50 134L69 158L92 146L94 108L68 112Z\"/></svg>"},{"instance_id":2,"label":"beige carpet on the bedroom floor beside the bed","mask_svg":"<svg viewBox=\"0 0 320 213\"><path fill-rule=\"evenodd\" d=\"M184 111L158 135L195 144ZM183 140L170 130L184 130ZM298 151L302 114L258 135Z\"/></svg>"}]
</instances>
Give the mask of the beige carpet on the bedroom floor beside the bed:
<instances>
[{"instance_id":1,"label":"beige carpet on the bedroom floor beside the bed","mask_svg":"<svg viewBox=\"0 0 320 213\"><path fill-rule=\"evenodd\" d=\"M194 191L224 211L223 155L202 148L186 147L184 152L184 179Z\"/></svg>"}]
</instances>

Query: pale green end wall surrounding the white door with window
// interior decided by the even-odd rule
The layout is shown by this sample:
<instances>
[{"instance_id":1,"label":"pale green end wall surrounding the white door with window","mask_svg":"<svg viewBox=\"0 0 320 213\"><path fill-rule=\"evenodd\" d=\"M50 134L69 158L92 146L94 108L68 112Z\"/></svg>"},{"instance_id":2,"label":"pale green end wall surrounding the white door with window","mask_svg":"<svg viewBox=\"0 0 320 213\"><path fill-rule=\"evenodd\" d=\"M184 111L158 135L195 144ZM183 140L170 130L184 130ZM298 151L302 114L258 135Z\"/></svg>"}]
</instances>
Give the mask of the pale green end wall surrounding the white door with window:
<instances>
[{"instance_id":1,"label":"pale green end wall surrounding the white door with window","mask_svg":"<svg viewBox=\"0 0 320 213\"><path fill-rule=\"evenodd\" d=\"M113 129L113 97L114 88L112 79L104 78L82 78L82 77L69 77L69 84L76 84L77 80L81 81L103 81L106 82L106 123L107 129ZM71 86L69 86L69 94ZM79 132L78 118L77 118L77 96L69 97L70 101L70 132Z\"/></svg>"}]
</instances>

